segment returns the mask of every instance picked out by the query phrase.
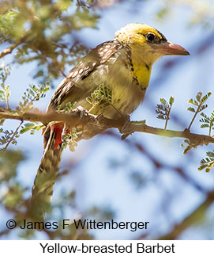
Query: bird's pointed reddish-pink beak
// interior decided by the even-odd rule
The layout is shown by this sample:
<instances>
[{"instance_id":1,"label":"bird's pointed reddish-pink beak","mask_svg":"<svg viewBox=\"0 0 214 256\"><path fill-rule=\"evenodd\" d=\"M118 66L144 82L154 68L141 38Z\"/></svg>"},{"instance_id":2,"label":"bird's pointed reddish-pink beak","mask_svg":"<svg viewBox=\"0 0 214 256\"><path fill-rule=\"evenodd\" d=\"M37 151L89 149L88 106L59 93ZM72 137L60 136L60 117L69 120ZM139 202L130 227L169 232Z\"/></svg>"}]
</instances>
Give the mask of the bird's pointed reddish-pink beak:
<instances>
[{"instance_id":1,"label":"bird's pointed reddish-pink beak","mask_svg":"<svg viewBox=\"0 0 214 256\"><path fill-rule=\"evenodd\" d=\"M190 52L186 51L185 48L171 42L153 44L152 46L156 52L163 53L163 55L190 55Z\"/></svg>"}]
</instances>

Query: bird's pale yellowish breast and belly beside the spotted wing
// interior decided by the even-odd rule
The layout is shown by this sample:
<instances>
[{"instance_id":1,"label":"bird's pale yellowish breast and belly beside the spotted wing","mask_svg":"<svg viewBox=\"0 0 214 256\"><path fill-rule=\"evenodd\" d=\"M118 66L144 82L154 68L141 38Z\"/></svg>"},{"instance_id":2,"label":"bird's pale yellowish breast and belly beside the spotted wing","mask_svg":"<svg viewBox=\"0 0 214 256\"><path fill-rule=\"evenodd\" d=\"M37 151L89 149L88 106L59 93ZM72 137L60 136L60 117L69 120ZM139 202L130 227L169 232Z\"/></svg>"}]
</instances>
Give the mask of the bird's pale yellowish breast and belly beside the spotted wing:
<instances>
[{"instance_id":1,"label":"bird's pale yellowish breast and belly beside the spotted wing","mask_svg":"<svg viewBox=\"0 0 214 256\"><path fill-rule=\"evenodd\" d=\"M83 90L83 95L84 92L92 94L99 86L106 86L111 90L110 104L103 109L99 108L99 105L91 108L92 106L85 101L85 97L82 97L77 105L92 109L90 113L93 114L103 113L103 116L108 118L120 117L120 113L133 113L143 101L145 94L145 88L141 86L136 76L145 82L146 79L140 72L137 71L137 74L134 74L133 65L127 58L126 51L116 52L107 62L96 67L96 70L87 78L76 84Z\"/></svg>"}]
</instances>

